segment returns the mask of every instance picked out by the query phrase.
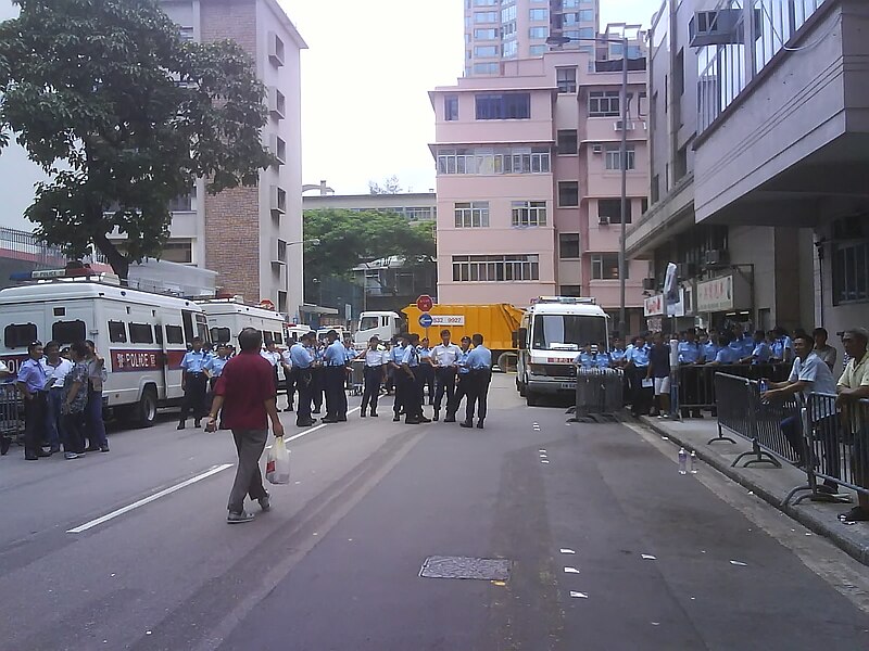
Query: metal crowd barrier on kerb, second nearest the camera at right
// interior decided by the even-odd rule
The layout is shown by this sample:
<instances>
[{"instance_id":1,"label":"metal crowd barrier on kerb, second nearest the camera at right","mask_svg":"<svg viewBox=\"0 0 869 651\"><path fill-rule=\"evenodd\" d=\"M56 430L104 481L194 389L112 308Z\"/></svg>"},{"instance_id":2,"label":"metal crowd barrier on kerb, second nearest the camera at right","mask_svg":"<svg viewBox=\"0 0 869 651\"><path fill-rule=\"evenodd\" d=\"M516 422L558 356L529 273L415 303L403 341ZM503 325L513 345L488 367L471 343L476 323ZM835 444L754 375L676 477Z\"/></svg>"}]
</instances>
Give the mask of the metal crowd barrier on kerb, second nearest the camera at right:
<instances>
[{"instance_id":1,"label":"metal crowd barrier on kerb, second nearest the camera at right","mask_svg":"<svg viewBox=\"0 0 869 651\"><path fill-rule=\"evenodd\" d=\"M798 397L765 403L760 399L760 390L755 380L720 372L715 375L715 387L718 396L718 437L708 443L735 443L723 435L723 429L752 442L752 451L736 457L731 467L735 467L744 457L754 457L745 462L745 467L767 462L777 468L781 468L779 459L797 465L806 458L798 435ZM790 441L785 431L795 433Z\"/></svg>"}]
</instances>

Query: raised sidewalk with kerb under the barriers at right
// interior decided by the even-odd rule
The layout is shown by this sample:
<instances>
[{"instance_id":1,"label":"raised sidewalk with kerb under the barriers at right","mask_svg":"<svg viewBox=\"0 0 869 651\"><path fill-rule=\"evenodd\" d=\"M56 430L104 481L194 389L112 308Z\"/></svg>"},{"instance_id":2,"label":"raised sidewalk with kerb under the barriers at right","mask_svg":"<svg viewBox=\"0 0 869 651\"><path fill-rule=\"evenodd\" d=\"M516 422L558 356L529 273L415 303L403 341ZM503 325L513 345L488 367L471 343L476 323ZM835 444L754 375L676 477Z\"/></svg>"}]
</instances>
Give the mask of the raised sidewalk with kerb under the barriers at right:
<instances>
[{"instance_id":1,"label":"raised sidewalk with kerb under the barriers at right","mask_svg":"<svg viewBox=\"0 0 869 651\"><path fill-rule=\"evenodd\" d=\"M793 499L788 506L782 506L782 501L792 488L806 485L805 472L784 462L782 468L776 468L771 463L742 468L747 457L740 461L738 468L731 468L730 464L740 454L751 451L752 445L727 430L723 430L723 435L733 438L735 445L727 441L709 444L709 439L718 437L718 423L714 418L669 421L643 417L640 420L662 436L667 436L676 445L689 451L695 450L701 460L753 490L755 495L784 511L816 534L826 536L865 565L869 565L869 523L858 522L847 525L839 520L839 513L847 511L853 505L815 502L806 498L795 507L792 503ZM849 493L845 488L841 492ZM807 490L799 492L797 497L807 493ZM854 499L856 503L856 497Z\"/></svg>"}]
</instances>

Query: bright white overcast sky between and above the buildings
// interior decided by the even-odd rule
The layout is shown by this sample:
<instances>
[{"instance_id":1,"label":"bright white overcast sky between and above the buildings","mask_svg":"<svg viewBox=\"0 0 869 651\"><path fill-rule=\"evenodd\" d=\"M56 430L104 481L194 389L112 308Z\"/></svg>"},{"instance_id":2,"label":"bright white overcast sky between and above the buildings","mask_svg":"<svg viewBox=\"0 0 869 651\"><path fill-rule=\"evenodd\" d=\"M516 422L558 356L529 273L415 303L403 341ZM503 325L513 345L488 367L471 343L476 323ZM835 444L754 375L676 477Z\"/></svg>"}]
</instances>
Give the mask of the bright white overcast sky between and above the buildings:
<instances>
[{"instance_id":1,"label":"bright white overcast sky between and above the buildings","mask_svg":"<svg viewBox=\"0 0 869 651\"><path fill-rule=\"evenodd\" d=\"M455 84L464 56L464 0L278 0L310 49L302 53L304 183L341 194L395 175L405 189L434 187L428 91ZM601 0L601 24L648 26L660 0ZM0 20L13 15L0 0ZM0 154L0 226L21 215L40 178L18 148Z\"/></svg>"}]
</instances>

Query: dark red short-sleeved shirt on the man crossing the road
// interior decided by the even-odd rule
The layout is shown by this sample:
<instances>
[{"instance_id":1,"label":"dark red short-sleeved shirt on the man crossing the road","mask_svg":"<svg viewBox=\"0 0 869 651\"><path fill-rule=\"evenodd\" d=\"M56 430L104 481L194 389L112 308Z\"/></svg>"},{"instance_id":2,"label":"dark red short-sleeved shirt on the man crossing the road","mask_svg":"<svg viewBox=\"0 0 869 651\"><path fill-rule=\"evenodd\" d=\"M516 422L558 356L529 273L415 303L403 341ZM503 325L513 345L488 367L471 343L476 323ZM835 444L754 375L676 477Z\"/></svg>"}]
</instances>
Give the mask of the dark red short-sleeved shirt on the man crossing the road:
<instances>
[{"instance_id":1,"label":"dark red short-sleeved shirt on the man crossing the road","mask_svg":"<svg viewBox=\"0 0 869 651\"><path fill-rule=\"evenodd\" d=\"M242 350L224 367L215 395L224 396L221 416L230 430L266 430L266 400L276 395L275 371L256 350Z\"/></svg>"}]
</instances>

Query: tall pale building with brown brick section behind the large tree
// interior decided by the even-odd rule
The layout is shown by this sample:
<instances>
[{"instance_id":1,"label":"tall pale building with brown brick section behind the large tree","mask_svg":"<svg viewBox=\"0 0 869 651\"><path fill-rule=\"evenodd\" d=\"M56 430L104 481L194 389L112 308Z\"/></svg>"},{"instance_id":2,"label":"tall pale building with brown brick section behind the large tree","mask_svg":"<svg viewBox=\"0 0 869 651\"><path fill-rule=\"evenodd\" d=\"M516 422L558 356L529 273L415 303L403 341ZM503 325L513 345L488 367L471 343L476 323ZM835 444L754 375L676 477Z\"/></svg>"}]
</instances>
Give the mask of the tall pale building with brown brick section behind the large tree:
<instances>
[{"instance_id":1,"label":"tall pale building with brown brick section behind the large tree","mask_svg":"<svg viewBox=\"0 0 869 651\"><path fill-rule=\"evenodd\" d=\"M261 171L255 188L210 195L200 180L190 196L173 206L164 257L217 271L224 292L251 303L267 298L300 320L300 52L306 44L276 0L165 0L161 5L186 38L232 39L251 56L267 89L263 144L279 161Z\"/></svg>"}]
</instances>

